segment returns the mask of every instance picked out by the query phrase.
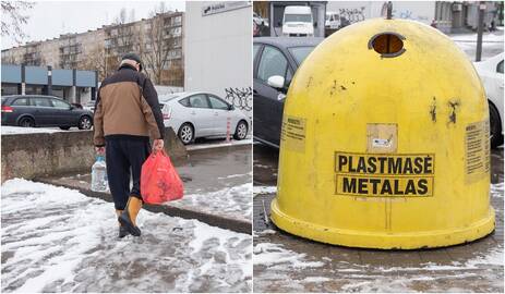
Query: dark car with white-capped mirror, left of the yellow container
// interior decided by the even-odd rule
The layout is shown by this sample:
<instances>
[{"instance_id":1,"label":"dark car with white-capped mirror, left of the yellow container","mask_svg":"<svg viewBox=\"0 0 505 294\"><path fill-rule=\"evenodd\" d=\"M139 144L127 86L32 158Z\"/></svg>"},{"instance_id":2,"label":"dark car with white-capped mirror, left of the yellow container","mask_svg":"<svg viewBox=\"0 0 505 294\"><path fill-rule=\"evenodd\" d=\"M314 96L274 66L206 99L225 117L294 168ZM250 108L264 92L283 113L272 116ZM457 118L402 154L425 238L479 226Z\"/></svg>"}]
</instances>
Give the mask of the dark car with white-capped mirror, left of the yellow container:
<instances>
[{"instance_id":1,"label":"dark car with white-capped mirror, left of the yellow container","mask_svg":"<svg viewBox=\"0 0 505 294\"><path fill-rule=\"evenodd\" d=\"M254 38L254 139L279 147L286 94L298 66L323 38Z\"/></svg>"}]
</instances>

